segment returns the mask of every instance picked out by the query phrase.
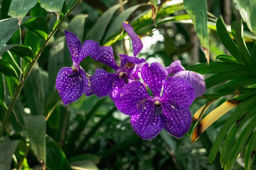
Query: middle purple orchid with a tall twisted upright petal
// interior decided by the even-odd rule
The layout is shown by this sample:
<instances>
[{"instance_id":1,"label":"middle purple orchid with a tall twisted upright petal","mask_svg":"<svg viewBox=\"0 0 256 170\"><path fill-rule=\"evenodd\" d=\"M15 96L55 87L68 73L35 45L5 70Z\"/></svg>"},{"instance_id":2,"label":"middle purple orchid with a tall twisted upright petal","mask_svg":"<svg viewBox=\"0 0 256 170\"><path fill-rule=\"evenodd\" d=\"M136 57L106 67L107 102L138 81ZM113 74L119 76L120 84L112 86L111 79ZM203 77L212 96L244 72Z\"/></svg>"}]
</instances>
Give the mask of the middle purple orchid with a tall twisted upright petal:
<instances>
[{"instance_id":1,"label":"middle purple orchid with a tall twisted upright petal","mask_svg":"<svg viewBox=\"0 0 256 170\"><path fill-rule=\"evenodd\" d=\"M112 47L103 46L100 48L101 54L99 59L93 59L110 66L114 69L115 73L108 73L104 69L96 68L89 82L93 94L98 97L109 95L113 100L125 84L141 78L140 71L146 60L137 58L136 56L142 50L143 43L130 24L123 23L123 27L131 37L134 56L130 57L125 54L120 54L121 64L117 65L113 56Z\"/></svg>"}]
</instances>

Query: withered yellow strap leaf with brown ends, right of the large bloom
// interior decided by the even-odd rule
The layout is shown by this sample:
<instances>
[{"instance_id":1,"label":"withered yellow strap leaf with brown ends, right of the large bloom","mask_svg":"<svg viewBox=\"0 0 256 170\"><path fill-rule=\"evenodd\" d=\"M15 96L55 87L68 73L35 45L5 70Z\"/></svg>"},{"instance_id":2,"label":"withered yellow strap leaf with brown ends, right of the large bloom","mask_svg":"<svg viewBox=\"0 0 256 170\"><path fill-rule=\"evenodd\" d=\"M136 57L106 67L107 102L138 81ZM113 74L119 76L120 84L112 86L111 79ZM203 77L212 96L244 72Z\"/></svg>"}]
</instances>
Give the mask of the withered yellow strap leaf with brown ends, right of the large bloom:
<instances>
[{"instance_id":1,"label":"withered yellow strap leaf with brown ends, right of the large bloom","mask_svg":"<svg viewBox=\"0 0 256 170\"><path fill-rule=\"evenodd\" d=\"M194 143L204 132L204 130L206 130L210 125L212 125L212 123L218 120L225 113L239 105L239 103L240 102L228 100L227 102L222 103L218 108L215 108L212 112L210 112L195 128L191 142Z\"/></svg>"}]
</instances>

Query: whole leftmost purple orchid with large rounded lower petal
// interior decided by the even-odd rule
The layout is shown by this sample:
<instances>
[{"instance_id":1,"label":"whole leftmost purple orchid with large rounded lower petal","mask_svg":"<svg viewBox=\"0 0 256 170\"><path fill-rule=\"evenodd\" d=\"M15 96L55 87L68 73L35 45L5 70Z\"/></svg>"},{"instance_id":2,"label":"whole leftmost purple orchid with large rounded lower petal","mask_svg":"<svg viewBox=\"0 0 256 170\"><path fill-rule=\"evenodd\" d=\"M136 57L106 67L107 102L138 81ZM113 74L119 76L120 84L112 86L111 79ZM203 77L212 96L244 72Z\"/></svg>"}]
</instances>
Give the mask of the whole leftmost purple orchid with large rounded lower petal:
<instances>
[{"instance_id":1,"label":"whole leftmost purple orchid with large rounded lower petal","mask_svg":"<svg viewBox=\"0 0 256 170\"><path fill-rule=\"evenodd\" d=\"M78 100L83 93L86 96L93 94L88 86L88 76L79 64L87 56L98 59L100 46L93 40L86 40L81 46L81 42L75 34L68 31L64 31L64 33L73 66L61 68L56 78L56 88L64 105L67 105Z\"/></svg>"}]
</instances>

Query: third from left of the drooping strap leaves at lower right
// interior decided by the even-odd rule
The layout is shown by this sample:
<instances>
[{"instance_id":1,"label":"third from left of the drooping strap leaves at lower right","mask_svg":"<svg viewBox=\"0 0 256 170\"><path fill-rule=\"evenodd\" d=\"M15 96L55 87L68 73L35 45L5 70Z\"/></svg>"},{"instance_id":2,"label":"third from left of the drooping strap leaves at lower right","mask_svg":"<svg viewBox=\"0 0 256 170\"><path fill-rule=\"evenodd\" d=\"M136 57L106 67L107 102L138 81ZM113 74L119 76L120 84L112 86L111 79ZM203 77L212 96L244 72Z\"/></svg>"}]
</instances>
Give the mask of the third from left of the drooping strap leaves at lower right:
<instances>
[{"instance_id":1,"label":"third from left of the drooping strap leaves at lower right","mask_svg":"<svg viewBox=\"0 0 256 170\"><path fill-rule=\"evenodd\" d=\"M225 166L225 170L231 170L237 156L243 149L245 143L247 142L247 139L249 139L251 133L253 132L254 127L256 127L256 115L253 116L253 118L250 120L250 122L246 125L244 130L241 132L239 137L236 139L236 143L231 150L230 156L228 157L227 164Z\"/></svg>"}]
</instances>

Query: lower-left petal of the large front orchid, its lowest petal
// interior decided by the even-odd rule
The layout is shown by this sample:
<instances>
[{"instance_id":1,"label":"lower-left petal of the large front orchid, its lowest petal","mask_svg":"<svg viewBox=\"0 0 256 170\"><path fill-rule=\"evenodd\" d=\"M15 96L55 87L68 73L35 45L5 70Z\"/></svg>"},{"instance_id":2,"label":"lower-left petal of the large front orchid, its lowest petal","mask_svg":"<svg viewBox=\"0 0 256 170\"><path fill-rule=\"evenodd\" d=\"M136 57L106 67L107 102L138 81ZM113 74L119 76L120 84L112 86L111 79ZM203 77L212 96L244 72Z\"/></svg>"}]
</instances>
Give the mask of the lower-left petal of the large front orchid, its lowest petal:
<instances>
[{"instance_id":1,"label":"lower-left petal of the large front orchid, its lowest petal","mask_svg":"<svg viewBox=\"0 0 256 170\"><path fill-rule=\"evenodd\" d=\"M142 139L152 139L163 129L162 115L154 114L152 101L145 102L144 110L137 115L131 116L131 126Z\"/></svg>"}]
</instances>

